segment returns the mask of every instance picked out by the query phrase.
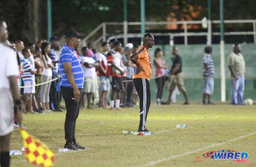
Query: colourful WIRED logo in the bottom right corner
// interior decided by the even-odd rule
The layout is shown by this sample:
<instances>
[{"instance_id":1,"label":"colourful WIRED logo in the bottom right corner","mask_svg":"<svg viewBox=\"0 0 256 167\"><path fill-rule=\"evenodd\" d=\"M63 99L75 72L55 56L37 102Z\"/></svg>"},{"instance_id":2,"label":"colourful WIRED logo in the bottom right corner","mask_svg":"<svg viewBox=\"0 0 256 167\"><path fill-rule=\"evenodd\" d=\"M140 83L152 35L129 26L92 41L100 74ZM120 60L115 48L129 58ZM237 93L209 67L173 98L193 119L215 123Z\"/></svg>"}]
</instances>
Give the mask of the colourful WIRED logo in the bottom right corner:
<instances>
[{"instance_id":1,"label":"colourful WIRED logo in the bottom right corner","mask_svg":"<svg viewBox=\"0 0 256 167\"><path fill-rule=\"evenodd\" d=\"M194 160L199 162L203 159L210 158L215 160L234 160L234 163L245 162L250 163L248 158L248 153L246 152L236 152L233 150L219 150L219 151L209 151L203 154L202 157L198 156Z\"/></svg>"}]
</instances>

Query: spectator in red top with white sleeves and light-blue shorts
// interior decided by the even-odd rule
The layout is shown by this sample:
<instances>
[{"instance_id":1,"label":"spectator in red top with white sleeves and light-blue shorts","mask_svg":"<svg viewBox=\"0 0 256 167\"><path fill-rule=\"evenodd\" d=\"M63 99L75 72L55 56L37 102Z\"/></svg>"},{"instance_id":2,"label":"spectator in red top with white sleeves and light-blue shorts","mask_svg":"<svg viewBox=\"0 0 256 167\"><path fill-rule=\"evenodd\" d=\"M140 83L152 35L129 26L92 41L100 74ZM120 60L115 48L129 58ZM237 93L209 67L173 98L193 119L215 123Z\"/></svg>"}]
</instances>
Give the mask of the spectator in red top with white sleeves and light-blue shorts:
<instances>
[{"instance_id":1,"label":"spectator in red top with white sleeves and light-blue shorts","mask_svg":"<svg viewBox=\"0 0 256 167\"><path fill-rule=\"evenodd\" d=\"M109 43L102 42L102 52L109 50ZM99 64L98 76L99 76L99 90L100 90L100 107L106 108L106 100L108 92L110 91L110 80L107 75L108 61L103 53L96 54L96 61Z\"/></svg>"}]
</instances>

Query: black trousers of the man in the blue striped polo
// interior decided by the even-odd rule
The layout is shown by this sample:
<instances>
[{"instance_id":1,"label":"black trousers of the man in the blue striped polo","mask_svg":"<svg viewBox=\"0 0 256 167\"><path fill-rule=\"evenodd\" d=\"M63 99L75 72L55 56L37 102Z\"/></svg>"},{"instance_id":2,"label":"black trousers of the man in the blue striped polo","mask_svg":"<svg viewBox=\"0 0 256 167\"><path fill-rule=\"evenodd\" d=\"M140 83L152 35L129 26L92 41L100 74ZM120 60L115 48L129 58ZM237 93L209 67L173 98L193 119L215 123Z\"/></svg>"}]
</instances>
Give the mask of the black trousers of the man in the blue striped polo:
<instances>
[{"instance_id":1,"label":"black trousers of the man in the blue striped polo","mask_svg":"<svg viewBox=\"0 0 256 167\"><path fill-rule=\"evenodd\" d=\"M68 87L60 87L61 94L65 100L65 105L67 109L66 120L65 120L65 139L66 143L76 143L75 138L75 127L76 119L79 115L79 101L76 101L74 98L74 90ZM79 89L80 94L82 95L82 89Z\"/></svg>"}]
</instances>

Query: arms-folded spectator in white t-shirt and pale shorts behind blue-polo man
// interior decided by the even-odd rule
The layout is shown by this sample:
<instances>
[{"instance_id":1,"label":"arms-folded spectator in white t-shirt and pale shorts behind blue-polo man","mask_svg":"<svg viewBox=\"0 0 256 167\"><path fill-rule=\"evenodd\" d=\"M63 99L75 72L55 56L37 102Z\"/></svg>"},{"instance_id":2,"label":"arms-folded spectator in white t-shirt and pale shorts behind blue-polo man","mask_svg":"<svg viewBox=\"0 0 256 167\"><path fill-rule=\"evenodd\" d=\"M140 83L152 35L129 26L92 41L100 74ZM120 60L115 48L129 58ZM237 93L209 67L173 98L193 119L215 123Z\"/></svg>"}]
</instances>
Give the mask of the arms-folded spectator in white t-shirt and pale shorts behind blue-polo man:
<instances>
[{"instance_id":1,"label":"arms-folded spectator in white t-shirt and pale shorts behind blue-polo man","mask_svg":"<svg viewBox=\"0 0 256 167\"><path fill-rule=\"evenodd\" d=\"M95 88L96 88L95 66L97 66L97 64L93 58L88 57L87 47L82 47L81 51L83 55L81 57L81 62L83 65L83 73L84 73L83 95L87 94L87 109L93 109L91 106L91 100L92 100L92 95L95 92Z\"/></svg>"}]
</instances>

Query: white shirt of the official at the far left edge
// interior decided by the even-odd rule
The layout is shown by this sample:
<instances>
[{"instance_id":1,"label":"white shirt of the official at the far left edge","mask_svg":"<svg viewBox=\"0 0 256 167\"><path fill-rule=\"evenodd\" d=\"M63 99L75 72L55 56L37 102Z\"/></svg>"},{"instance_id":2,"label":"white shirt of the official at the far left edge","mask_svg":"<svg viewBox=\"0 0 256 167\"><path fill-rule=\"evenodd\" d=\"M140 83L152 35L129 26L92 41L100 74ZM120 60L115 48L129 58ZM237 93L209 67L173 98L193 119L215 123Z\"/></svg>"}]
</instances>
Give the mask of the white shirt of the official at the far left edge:
<instances>
[{"instance_id":1,"label":"white shirt of the official at the far left edge","mask_svg":"<svg viewBox=\"0 0 256 167\"><path fill-rule=\"evenodd\" d=\"M16 58L16 52L8 46L0 43L0 89L10 89L9 76L18 76L18 62Z\"/></svg>"}]
</instances>

